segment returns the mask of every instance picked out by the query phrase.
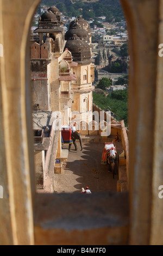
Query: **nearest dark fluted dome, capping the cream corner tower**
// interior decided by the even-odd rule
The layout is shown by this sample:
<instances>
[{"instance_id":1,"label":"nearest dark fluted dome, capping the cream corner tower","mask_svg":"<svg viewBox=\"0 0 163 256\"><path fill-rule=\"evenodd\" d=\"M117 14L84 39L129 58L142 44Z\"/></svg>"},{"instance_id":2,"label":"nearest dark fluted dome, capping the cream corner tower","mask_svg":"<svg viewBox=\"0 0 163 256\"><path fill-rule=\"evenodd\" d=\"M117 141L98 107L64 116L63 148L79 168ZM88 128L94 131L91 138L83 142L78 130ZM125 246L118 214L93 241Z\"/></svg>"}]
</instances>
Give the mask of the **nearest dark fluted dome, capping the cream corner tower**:
<instances>
[{"instance_id":1,"label":"nearest dark fluted dome, capping the cream corner tower","mask_svg":"<svg viewBox=\"0 0 163 256\"><path fill-rule=\"evenodd\" d=\"M72 53L72 57L75 62L83 62L91 59L89 44L80 40L76 34L67 40L65 48Z\"/></svg>"}]
</instances>

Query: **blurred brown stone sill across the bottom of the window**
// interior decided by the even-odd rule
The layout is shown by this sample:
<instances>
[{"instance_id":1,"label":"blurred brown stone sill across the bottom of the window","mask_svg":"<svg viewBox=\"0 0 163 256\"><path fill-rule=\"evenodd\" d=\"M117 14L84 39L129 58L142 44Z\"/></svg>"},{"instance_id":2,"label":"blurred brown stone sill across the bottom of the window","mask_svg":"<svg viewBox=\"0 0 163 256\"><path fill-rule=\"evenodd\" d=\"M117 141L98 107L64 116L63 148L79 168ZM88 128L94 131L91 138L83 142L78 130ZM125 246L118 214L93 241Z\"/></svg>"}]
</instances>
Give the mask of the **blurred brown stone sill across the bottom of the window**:
<instances>
[{"instance_id":1,"label":"blurred brown stone sill across the bottom of the window","mask_svg":"<svg viewBox=\"0 0 163 256\"><path fill-rule=\"evenodd\" d=\"M127 245L128 193L36 194L35 245Z\"/></svg>"}]
</instances>

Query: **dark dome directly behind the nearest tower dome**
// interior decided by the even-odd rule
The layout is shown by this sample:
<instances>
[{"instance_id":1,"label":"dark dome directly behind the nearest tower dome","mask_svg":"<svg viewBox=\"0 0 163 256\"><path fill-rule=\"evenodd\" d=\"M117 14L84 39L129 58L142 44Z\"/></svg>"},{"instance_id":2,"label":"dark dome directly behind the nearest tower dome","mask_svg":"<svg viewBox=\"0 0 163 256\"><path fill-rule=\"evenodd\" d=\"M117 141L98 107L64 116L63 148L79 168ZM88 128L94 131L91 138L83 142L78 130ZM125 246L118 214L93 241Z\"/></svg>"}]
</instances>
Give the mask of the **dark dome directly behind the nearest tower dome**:
<instances>
[{"instance_id":1,"label":"dark dome directly behind the nearest tower dome","mask_svg":"<svg viewBox=\"0 0 163 256\"><path fill-rule=\"evenodd\" d=\"M89 35L85 29L81 28L78 23L74 23L73 27L68 29L65 34L65 40L69 40L73 35L77 35L79 39L89 42Z\"/></svg>"}]
</instances>

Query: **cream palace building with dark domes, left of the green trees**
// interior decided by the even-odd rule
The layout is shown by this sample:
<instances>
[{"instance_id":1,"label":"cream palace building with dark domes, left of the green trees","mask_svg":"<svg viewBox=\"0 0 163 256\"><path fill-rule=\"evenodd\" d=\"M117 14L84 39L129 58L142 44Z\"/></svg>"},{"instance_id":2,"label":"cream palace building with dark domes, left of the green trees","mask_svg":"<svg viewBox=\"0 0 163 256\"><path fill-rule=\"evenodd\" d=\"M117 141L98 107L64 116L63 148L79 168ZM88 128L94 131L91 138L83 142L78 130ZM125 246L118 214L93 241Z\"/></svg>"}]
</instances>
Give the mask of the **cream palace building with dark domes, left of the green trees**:
<instances>
[{"instance_id":1,"label":"cream palace building with dark domes, left of the green trees","mask_svg":"<svg viewBox=\"0 0 163 256\"><path fill-rule=\"evenodd\" d=\"M92 83L95 77L89 23L78 17L65 34L60 12L53 6L41 15L33 34L35 35L30 46L33 111L51 113L51 117L55 117L53 120L61 115L61 124L64 125L71 125L76 121L78 130L82 130L81 127L84 126L85 133L92 121ZM73 113L78 113L75 119ZM46 130L47 126L48 122L45 124ZM35 130L38 129L38 125L35 125ZM44 137L45 134L47 136L48 132L44 132ZM54 137L57 138L57 132L53 133L52 139ZM61 139L59 131L56 154L60 165L58 167L57 163L55 164L55 172L61 172L62 161L68 154L62 150ZM37 185L43 185L45 181L38 159L42 159L41 149L46 148L47 140L48 138L44 138L44 146L35 146L35 162L39 162L39 166L36 167ZM41 166L45 166L46 176L48 164L51 165L48 153L44 161Z\"/></svg>"}]
</instances>

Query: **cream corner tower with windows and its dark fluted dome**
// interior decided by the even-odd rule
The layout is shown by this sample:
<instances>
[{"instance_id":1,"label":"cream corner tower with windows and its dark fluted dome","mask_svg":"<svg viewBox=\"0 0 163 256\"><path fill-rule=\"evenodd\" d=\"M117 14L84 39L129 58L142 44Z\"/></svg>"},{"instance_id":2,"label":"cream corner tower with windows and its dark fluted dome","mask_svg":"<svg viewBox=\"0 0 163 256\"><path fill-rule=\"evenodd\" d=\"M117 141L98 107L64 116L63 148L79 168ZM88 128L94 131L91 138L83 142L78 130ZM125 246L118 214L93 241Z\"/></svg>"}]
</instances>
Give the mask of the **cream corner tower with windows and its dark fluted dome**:
<instances>
[{"instance_id":1,"label":"cream corner tower with windows and its dark fluted dome","mask_svg":"<svg viewBox=\"0 0 163 256\"><path fill-rule=\"evenodd\" d=\"M77 31L78 29L76 29ZM73 60L78 63L73 69L73 74L77 80L72 84L73 104L72 111L80 113L80 119L89 123L92 121L92 82L94 80L94 64L91 59L91 50L85 40L78 38L74 34L67 40L65 49L68 49L73 56Z\"/></svg>"}]
</instances>

